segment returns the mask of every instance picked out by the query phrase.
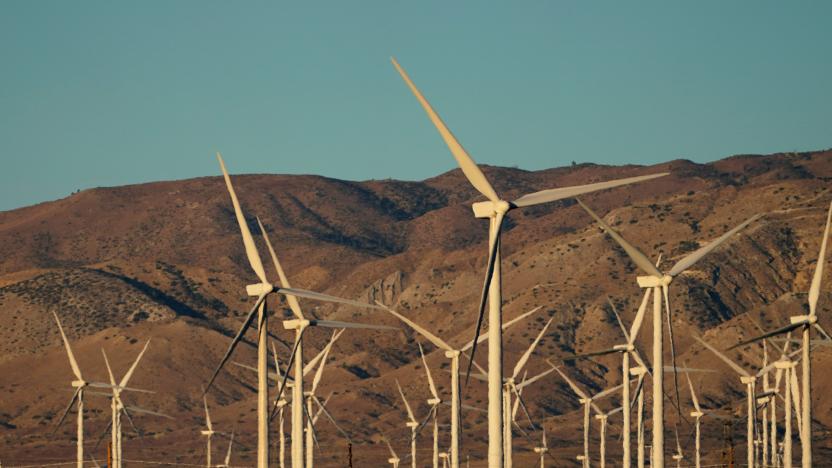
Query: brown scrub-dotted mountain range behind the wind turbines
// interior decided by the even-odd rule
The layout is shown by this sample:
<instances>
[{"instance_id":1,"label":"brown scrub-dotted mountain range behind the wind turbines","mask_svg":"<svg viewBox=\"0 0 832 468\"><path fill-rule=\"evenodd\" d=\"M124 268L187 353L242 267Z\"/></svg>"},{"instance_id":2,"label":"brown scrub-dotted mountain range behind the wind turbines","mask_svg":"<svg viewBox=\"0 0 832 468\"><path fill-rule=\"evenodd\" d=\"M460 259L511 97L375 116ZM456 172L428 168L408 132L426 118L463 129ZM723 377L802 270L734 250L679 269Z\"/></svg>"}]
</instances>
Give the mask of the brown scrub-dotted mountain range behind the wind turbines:
<instances>
[{"instance_id":1,"label":"brown scrub-dotted mountain range behind the wind turbines","mask_svg":"<svg viewBox=\"0 0 832 468\"><path fill-rule=\"evenodd\" d=\"M582 164L543 171L484 171L506 198L549 187L671 172L585 198L647 255L662 254L665 266L747 217L764 213L763 219L679 277L671 295L679 361L718 371L696 376L700 399L710 408L744 411L739 380L695 344L693 335L727 347L757 332L751 318L770 328L787 323L791 313L805 307L832 199L832 151L743 155L709 164L677 160L651 167ZM470 204L480 198L460 171L421 182L266 174L233 179L249 225L259 234L254 216L261 217L294 286L382 299L451 343L470 339L485 270L487 226L471 214ZM607 296L629 323L641 295L634 281L636 269L591 221L572 200L510 215L503 237L505 315L543 308L506 333L508 369L548 317L554 321L529 363L531 373L547 368L545 358L558 361L622 340ZM74 420L52 434L71 396L72 380L51 316L54 311L91 380L106 378L100 348L112 356L121 374L144 341L152 338L131 383L157 393L126 399L174 419L135 416L142 435L126 434L125 458L202 463L200 387L250 307L244 286L254 281L219 177L97 188L0 213L0 461L38 464L74 458ZM820 320L832 328L828 276L822 289ZM383 312L309 301L304 307L318 317L398 325ZM284 304L270 309L278 318L287 314ZM277 320L270 328L283 343L279 351L285 358L291 335ZM639 339L644 350L650 349L651 333L646 321ZM313 330L308 339L307 359L321 349L328 334ZM407 453L404 412L393 379L402 383L418 415L426 414L428 388L417 340L419 336L407 329L348 330L334 346L319 393L333 393L331 411L353 436L356 466L381 466L386 449L378 444L380 431L395 440L400 456ZM447 368L446 360L433 347L426 349L434 377L447 391L447 374L439 370ZM732 354L749 367L760 365L758 348ZM772 351L771 359L777 355ZM485 362L484 352L478 356ZM253 362L250 343L233 359ZM832 427L832 406L826 398L832 378L822 372L832 364L829 348L818 348L815 360L816 457L832 459L826 437ZM620 379L616 356L569 362L565 368L592 390ZM235 450L234 462L250 464L256 446L255 379L237 366L226 369L209 395L212 416L219 430L234 429L245 445ZM686 414L686 387L680 392ZM472 380L465 395L467 403L485 406L482 384ZM580 418L568 387L550 376L530 387L524 398L532 416L546 426L555 457L574 460ZM606 404L611 407L612 401ZM87 449L102 459L106 440L94 447L109 421L109 402L90 397L87 408ZM445 418L447 412L440 414ZM672 431L672 406L668 414ZM743 418L735 421L732 432L737 459L744 456ZM478 466L485 452L484 418L470 412L464 422L463 453ZM709 448L705 461L719 460L723 423L704 423ZM690 425L681 421L679 428L683 442L692 447ZM611 429L608 440L610 461L619 457L617 430ZM420 436L420 466L429 462L428 432ZM318 436L319 465L346 466L346 443L326 421L320 423ZM519 434L515 441L519 465L528 466L534 457L532 445ZM225 443L215 442L215 450L219 457Z\"/></svg>"}]
</instances>

